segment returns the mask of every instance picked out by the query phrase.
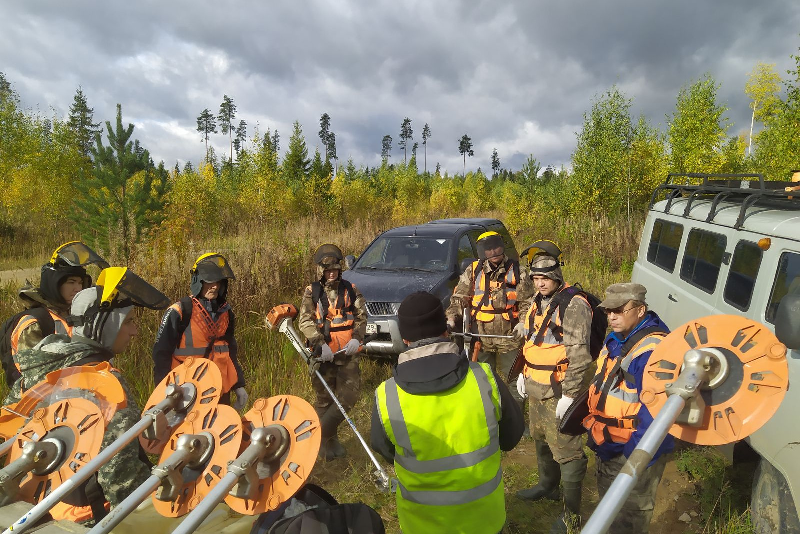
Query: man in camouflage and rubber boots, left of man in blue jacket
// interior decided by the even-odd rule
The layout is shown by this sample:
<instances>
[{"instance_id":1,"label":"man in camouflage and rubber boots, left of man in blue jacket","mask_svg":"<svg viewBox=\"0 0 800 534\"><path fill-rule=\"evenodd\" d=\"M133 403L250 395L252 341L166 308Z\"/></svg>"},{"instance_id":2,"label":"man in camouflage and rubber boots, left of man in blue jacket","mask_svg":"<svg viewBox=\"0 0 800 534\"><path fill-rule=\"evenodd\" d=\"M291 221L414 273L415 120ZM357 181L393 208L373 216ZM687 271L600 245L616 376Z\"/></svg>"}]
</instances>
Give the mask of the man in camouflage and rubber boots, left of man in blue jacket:
<instances>
[{"instance_id":1,"label":"man in camouflage and rubber boots, left of man in blue jacket","mask_svg":"<svg viewBox=\"0 0 800 534\"><path fill-rule=\"evenodd\" d=\"M561 251L543 251L538 243L545 243L548 250L554 246L542 241L529 249L534 251L530 276L537 293L524 322L526 343L522 351L526 361L517 388L520 395L530 396L530 436L536 448L539 482L534 488L517 492L517 496L533 501L557 500L558 486L563 482L565 513L550 532L566 533L567 524L580 520L588 460L580 436L558 432L558 423L580 394L592 363L592 308L578 293L571 296L562 315L559 307L570 295L565 291L570 284L562 274Z\"/></svg>"}]
</instances>

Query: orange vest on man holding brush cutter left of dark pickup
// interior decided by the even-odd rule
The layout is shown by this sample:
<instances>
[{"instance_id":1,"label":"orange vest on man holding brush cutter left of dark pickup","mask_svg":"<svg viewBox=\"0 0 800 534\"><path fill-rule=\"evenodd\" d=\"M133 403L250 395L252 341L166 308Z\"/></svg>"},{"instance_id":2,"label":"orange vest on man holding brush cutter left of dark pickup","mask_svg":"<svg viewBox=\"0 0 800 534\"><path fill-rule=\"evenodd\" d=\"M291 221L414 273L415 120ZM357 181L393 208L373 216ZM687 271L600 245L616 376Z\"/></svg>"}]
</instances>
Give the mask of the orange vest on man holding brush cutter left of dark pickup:
<instances>
[{"instance_id":1,"label":"orange vest on man holding brush cutter left of dark pickup","mask_svg":"<svg viewBox=\"0 0 800 534\"><path fill-rule=\"evenodd\" d=\"M341 351L350 339L353 339L355 324L355 289L345 279L339 280L336 302L330 305L328 295L322 283L311 284L311 299L316 304L317 316L314 319L322 331L325 342L331 351ZM359 348L358 351L361 351Z\"/></svg>"}]
</instances>

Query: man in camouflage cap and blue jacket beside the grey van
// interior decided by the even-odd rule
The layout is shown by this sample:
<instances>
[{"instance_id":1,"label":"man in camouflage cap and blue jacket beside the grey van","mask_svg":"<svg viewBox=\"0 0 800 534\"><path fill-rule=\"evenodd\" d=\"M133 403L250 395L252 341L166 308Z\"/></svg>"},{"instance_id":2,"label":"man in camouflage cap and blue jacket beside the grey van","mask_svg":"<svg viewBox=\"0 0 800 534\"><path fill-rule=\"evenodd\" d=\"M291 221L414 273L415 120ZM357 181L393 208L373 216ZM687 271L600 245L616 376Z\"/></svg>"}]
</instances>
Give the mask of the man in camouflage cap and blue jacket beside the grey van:
<instances>
[{"instance_id":1,"label":"man in camouflage cap and blue jacket beside the grey van","mask_svg":"<svg viewBox=\"0 0 800 534\"><path fill-rule=\"evenodd\" d=\"M654 311L647 309L646 295L647 289L640 283L615 283L606 289L606 299L598 306L608 315L613 331L598 358L598 371L589 389L589 416L583 426L589 431L587 444L597 453L601 499L653 423L653 416L639 395L650 355L670 330ZM666 436L609 532L650 532L656 490L664 474L666 455L674 447L674 437Z\"/></svg>"}]
</instances>

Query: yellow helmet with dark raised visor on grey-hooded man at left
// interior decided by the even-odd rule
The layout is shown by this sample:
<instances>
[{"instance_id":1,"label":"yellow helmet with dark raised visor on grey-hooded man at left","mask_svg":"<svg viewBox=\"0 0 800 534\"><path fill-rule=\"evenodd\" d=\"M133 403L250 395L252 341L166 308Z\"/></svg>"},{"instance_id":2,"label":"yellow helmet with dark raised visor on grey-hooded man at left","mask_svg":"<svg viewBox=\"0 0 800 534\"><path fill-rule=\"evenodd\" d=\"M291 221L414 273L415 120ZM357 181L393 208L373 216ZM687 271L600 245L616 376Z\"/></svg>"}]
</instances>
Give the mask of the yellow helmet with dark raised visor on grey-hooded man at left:
<instances>
[{"instance_id":1,"label":"yellow helmet with dark raised visor on grey-hooded man at left","mask_svg":"<svg viewBox=\"0 0 800 534\"><path fill-rule=\"evenodd\" d=\"M101 310L138 306L166 310L170 299L128 267L109 267L98 277L98 305Z\"/></svg>"}]
</instances>

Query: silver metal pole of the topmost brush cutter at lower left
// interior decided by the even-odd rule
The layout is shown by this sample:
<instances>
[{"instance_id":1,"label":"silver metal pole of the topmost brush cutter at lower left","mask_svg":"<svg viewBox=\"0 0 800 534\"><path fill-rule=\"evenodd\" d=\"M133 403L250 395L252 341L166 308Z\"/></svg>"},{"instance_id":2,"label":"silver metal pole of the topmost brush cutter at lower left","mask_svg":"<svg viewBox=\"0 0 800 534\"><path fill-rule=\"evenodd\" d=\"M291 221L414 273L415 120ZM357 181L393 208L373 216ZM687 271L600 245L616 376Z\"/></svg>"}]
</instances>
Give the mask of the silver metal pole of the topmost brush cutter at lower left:
<instances>
[{"instance_id":1,"label":"silver metal pole of the topmost brush cutter at lower left","mask_svg":"<svg viewBox=\"0 0 800 534\"><path fill-rule=\"evenodd\" d=\"M145 417L142 417L137 424L130 428L128 432L119 436L118 440L114 441L113 444L110 444L107 448L102 450L98 456L94 456L94 458L86 465L84 465L81 469L78 470L70 478L70 480L66 480L64 484L55 488L50 495L46 496L43 500L39 501L39 504L34 506L34 508L30 509L30 512L26 513L25 516L22 516L20 519L17 520L16 523L12 524L9 528L3 532L3 534L20 534L20 532L25 532L29 528L33 527L34 524L42 518L47 512L50 510L61 500L69 495L71 492L78 488L81 484L89 480L90 476L94 475L95 472L98 471L103 465L105 465L109 460L114 458L114 456L125 448L127 444L130 444L131 441L138 438L139 434L144 432L146 428L150 427L153 424L153 417L149 414Z\"/></svg>"}]
</instances>

